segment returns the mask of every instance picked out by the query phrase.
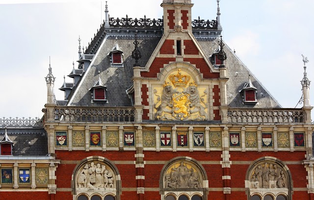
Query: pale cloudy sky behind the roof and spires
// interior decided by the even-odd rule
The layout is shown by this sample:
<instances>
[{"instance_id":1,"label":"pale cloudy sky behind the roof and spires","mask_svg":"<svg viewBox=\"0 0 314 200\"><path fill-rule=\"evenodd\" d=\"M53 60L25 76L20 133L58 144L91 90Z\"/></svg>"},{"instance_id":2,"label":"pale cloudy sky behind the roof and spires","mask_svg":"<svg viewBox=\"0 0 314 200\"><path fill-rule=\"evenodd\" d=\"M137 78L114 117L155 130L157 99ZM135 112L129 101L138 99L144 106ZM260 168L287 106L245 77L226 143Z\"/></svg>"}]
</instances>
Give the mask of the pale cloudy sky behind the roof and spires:
<instances>
[{"instance_id":1,"label":"pale cloudy sky behind the roof and spires","mask_svg":"<svg viewBox=\"0 0 314 200\"><path fill-rule=\"evenodd\" d=\"M162 0L107 1L110 17L162 18ZM192 19L216 18L216 0L192 3ZM314 81L313 9L313 0L220 1L224 41L283 108L302 107L301 54ZM105 0L0 0L0 117L43 115L49 57L56 99L64 99L58 88L64 75L72 82L67 75L78 60L78 35L88 46L104 11Z\"/></svg>"}]
</instances>

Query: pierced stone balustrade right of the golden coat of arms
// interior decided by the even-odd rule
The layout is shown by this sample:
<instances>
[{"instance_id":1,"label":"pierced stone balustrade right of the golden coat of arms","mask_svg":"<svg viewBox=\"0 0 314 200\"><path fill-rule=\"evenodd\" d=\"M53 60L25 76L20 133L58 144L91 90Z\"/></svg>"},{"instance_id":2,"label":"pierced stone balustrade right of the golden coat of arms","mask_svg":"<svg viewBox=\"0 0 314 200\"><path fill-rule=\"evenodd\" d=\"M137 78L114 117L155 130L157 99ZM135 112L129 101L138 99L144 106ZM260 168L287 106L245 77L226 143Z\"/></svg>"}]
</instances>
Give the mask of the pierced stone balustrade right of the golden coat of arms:
<instances>
[{"instance_id":1,"label":"pierced stone balustrade right of the golden coat of arms","mask_svg":"<svg viewBox=\"0 0 314 200\"><path fill-rule=\"evenodd\" d=\"M228 110L229 123L304 123L301 109L252 109Z\"/></svg>"}]
</instances>

